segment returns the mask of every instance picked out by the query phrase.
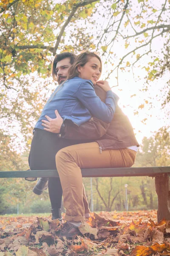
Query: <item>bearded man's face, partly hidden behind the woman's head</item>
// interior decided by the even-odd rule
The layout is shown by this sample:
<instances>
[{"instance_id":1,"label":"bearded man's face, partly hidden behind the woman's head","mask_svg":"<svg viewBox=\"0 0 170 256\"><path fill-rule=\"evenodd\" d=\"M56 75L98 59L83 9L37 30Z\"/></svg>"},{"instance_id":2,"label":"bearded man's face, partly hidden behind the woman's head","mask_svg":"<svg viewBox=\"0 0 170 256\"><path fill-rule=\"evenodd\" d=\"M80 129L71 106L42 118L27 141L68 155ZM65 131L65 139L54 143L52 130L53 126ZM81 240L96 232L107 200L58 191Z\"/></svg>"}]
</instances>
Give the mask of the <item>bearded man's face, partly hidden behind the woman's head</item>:
<instances>
[{"instance_id":1,"label":"bearded man's face, partly hidden behind the woman's head","mask_svg":"<svg viewBox=\"0 0 170 256\"><path fill-rule=\"evenodd\" d=\"M57 82L61 84L67 79L68 70L71 67L70 58L64 58L61 61L57 62L56 73L57 73Z\"/></svg>"}]
</instances>

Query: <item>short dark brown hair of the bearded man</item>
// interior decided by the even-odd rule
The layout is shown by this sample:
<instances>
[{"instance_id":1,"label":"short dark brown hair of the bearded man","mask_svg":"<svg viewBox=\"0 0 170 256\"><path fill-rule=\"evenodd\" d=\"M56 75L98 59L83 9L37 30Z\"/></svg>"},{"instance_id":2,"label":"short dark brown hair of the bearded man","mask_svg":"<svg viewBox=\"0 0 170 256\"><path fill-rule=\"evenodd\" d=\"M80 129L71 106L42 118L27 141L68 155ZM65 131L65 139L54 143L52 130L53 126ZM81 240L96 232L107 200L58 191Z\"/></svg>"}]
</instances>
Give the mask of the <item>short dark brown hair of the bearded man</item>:
<instances>
[{"instance_id":1,"label":"short dark brown hair of the bearded man","mask_svg":"<svg viewBox=\"0 0 170 256\"><path fill-rule=\"evenodd\" d=\"M73 52L62 52L54 56L54 60L51 67L51 73L55 81L57 81L57 72L56 72L57 62L62 61L65 58L70 58L70 63L73 64L74 59L76 58L76 55Z\"/></svg>"}]
</instances>

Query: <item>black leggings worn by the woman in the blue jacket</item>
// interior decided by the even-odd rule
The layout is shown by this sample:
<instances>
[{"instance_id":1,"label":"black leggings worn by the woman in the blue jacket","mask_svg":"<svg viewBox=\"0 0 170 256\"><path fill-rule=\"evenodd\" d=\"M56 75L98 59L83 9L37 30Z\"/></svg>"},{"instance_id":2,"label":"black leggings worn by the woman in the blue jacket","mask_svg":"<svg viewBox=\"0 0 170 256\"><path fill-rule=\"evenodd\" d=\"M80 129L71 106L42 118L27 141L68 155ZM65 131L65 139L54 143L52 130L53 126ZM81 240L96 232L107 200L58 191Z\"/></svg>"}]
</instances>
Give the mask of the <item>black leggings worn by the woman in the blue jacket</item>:
<instances>
[{"instance_id":1,"label":"black leggings worn by the woman in the blue jacket","mask_svg":"<svg viewBox=\"0 0 170 256\"><path fill-rule=\"evenodd\" d=\"M57 134L35 129L34 137L31 142L29 154L29 166L31 170L54 170L56 169L55 155L61 148L88 141L65 140L58 138ZM48 192L51 207L61 208L62 186L59 178L51 177L48 180Z\"/></svg>"}]
</instances>

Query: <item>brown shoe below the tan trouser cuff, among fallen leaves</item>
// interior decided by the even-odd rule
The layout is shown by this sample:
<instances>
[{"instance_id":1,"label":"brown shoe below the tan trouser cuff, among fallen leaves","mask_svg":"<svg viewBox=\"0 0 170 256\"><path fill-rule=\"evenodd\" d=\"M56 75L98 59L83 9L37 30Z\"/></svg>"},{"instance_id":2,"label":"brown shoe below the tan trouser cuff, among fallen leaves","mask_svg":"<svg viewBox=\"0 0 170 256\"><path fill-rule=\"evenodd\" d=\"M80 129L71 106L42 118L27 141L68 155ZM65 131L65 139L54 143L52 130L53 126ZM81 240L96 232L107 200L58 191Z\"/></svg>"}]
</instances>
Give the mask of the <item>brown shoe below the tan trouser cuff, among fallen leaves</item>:
<instances>
[{"instance_id":1,"label":"brown shoe below the tan trouser cuff, among fallen leaves","mask_svg":"<svg viewBox=\"0 0 170 256\"><path fill-rule=\"evenodd\" d=\"M77 226L75 226L74 224L71 224L68 221L62 225L62 229L60 231L59 237L65 236L68 239L72 239L73 236L75 235L77 236L81 235Z\"/></svg>"}]
</instances>

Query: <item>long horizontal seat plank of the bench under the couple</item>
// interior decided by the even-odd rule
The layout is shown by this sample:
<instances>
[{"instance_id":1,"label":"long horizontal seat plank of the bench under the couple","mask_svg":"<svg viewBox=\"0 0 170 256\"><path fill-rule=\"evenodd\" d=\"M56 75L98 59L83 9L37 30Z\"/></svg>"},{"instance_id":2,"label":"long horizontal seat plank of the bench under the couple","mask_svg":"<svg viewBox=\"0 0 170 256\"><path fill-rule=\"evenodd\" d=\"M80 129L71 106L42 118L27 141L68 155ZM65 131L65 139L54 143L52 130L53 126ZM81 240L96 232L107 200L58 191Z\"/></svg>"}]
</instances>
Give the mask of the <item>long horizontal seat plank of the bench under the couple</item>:
<instances>
[{"instance_id":1,"label":"long horizontal seat plank of the bench under the couple","mask_svg":"<svg viewBox=\"0 0 170 256\"><path fill-rule=\"evenodd\" d=\"M82 177L154 176L170 173L170 166L82 169ZM0 178L59 177L57 170L30 170L0 172Z\"/></svg>"}]
</instances>

